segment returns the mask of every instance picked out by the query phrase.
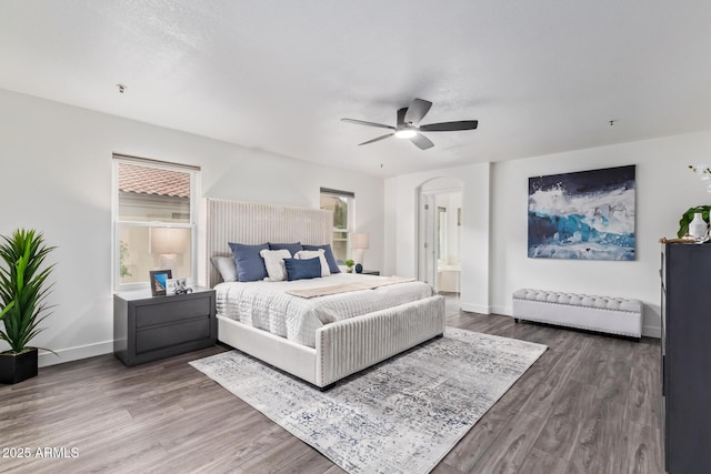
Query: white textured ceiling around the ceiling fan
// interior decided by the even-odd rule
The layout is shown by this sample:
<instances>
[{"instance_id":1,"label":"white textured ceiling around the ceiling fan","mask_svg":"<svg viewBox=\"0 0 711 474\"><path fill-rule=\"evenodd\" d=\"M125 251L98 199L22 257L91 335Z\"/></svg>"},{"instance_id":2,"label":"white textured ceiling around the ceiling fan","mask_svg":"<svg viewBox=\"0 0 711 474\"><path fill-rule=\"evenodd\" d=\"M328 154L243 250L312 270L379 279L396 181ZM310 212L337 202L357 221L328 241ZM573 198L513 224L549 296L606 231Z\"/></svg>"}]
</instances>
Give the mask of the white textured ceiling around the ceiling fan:
<instances>
[{"instance_id":1,"label":"white textured ceiling around the ceiling fan","mask_svg":"<svg viewBox=\"0 0 711 474\"><path fill-rule=\"evenodd\" d=\"M709 0L2 0L0 88L394 175L711 129L710 26ZM415 97L479 129L421 151L340 121Z\"/></svg>"}]
</instances>

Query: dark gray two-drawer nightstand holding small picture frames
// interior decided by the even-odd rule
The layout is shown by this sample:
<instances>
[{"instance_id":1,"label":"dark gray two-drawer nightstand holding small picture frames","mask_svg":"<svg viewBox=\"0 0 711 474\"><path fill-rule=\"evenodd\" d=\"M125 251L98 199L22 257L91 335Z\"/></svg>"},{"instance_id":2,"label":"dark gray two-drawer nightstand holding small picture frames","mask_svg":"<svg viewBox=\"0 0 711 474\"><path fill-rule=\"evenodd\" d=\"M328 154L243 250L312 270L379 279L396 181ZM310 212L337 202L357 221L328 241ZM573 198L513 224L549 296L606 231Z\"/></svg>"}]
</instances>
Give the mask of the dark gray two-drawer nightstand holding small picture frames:
<instances>
[{"instance_id":1,"label":"dark gray two-drawer nightstand holding small picture frames","mask_svg":"<svg viewBox=\"0 0 711 474\"><path fill-rule=\"evenodd\" d=\"M214 345L214 290L151 296L150 291L113 295L113 353L137 365Z\"/></svg>"}]
</instances>

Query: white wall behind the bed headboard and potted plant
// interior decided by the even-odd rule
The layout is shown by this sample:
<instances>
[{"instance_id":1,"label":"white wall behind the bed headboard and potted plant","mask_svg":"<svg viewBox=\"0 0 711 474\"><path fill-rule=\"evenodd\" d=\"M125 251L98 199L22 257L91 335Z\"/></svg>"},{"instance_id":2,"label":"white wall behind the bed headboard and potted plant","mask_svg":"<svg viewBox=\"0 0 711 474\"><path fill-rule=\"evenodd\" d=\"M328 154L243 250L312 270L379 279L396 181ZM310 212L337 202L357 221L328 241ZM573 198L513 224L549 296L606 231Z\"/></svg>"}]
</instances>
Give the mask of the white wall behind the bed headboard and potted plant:
<instances>
[{"instance_id":1,"label":"white wall behind the bed headboard and potted plant","mask_svg":"<svg viewBox=\"0 0 711 474\"><path fill-rule=\"evenodd\" d=\"M60 356L40 365L112 352L113 152L202 167L211 198L318 208L320 186L353 191L369 265L383 264L381 179L0 90L0 234L34 228L58 246L57 307L33 344Z\"/></svg>"}]
</instances>

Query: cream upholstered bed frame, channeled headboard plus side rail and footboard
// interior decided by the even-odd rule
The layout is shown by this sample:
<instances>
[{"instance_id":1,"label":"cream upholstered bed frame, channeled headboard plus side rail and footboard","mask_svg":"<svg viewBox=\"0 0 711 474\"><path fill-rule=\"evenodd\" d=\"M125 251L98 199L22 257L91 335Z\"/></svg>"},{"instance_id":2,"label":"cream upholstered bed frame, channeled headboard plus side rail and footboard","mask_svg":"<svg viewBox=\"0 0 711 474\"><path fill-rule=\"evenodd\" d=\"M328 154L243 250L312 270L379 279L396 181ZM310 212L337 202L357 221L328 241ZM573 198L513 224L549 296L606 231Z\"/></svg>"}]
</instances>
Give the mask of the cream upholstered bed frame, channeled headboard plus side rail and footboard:
<instances>
[{"instance_id":1,"label":"cream upholstered bed frame, channeled headboard plus side rail and footboard","mask_svg":"<svg viewBox=\"0 0 711 474\"><path fill-rule=\"evenodd\" d=\"M231 255L228 242L323 244L333 235L332 214L318 209L204 199L204 268L200 280L220 282L210 258ZM444 332L444 299L431 296L327 324L316 347L254 329L218 314L218 339L318 387L384 361Z\"/></svg>"}]
</instances>

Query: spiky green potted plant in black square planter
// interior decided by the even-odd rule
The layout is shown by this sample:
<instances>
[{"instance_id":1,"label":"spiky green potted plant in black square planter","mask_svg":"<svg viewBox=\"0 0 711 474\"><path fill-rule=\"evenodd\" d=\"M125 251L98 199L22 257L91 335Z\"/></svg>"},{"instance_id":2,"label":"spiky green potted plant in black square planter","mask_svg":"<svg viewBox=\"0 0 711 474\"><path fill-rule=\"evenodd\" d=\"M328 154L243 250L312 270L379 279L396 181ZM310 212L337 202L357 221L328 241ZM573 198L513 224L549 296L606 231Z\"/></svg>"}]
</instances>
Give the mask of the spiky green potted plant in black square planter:
<instances>
[{"instance_id":1,"label":"spiky green potted plant in black square planter","mask_svg":"<svg viewBox=\"0 0 711 474\"><path fill-rule=\"evenodd\" d=\"M10 350L0 353L0 383L18 383L37 375L38 347L30 341L43 329L51 285L46 285L54 265L41 269L53 246L44 245L41 233L19 229L0 241L0 340ZM53 351L50 351L53 353Z\"/></svg>"}]
</instances>

